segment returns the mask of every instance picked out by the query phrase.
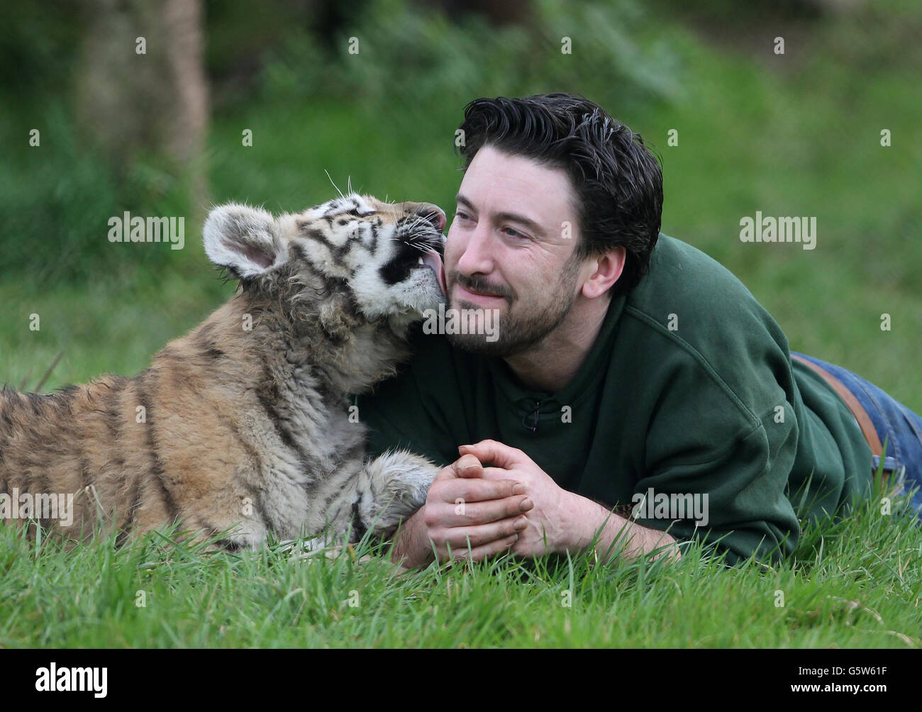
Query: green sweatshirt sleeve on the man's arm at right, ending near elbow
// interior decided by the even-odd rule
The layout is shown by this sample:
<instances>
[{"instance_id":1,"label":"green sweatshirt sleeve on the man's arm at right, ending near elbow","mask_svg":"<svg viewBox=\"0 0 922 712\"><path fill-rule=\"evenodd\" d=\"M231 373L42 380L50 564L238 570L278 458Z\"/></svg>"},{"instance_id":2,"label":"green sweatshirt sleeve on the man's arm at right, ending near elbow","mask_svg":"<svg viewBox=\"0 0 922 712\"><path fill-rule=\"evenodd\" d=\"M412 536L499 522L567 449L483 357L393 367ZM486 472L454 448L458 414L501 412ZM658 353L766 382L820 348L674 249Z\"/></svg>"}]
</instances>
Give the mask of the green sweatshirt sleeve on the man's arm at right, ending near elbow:
<instances>
[{"instance_id":1,"label":"green sweatshirt sleeve on the man's arm at right, ending near elbow","mask_svg":"<svg viewBox=\"0 0 922 712\"><path fill-rule=\"evenodd\" d=\"M794 409L771 374L762 381L758 404L747 404L715 374L699 370L683 367L668 380L649 426L644 476L634 488L635 497L654 504L669 497L679 506L657 513L642 501L634 507L642 516L634 520L668 530L676 540L713 544L727 552L727 564L753 554L778 562L800 536L786 496L798 447ZM691 503L698 510L690 514Z\"/></svg>"}]
</instances>

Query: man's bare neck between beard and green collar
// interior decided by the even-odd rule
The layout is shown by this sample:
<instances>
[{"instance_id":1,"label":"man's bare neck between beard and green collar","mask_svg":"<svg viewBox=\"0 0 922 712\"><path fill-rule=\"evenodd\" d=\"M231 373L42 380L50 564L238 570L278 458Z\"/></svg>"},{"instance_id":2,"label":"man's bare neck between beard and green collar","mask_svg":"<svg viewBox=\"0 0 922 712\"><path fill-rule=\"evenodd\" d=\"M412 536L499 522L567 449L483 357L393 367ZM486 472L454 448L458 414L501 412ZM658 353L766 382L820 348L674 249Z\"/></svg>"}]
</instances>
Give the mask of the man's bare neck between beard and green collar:
<instances>
[{"instance_id":1,"label":"man's bare neck between beard and green collar","mask_svg":"<svg viewBox=\"0 0 922 712\"><path fill-rule=\"evenodd\" d=\"M556 393L583 365L596 343L610 303L608 297L578 297L560 326L531 349L505 362L526 388Z\"/></svg>"}]
</instances>

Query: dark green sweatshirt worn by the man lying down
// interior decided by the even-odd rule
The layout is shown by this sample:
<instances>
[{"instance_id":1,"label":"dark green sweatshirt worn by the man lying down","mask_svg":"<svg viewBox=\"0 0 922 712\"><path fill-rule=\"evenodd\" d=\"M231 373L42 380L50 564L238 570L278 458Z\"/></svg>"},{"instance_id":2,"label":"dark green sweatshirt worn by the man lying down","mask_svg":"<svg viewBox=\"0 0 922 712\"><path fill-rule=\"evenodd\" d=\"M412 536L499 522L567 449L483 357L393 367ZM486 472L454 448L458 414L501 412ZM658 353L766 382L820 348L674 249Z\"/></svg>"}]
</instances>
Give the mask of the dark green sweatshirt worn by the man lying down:
<instances>
[{"instance_id":1,"label":"dark green sweatshirt worn by the man lying down","mask_svg":"<svg viewBox=\"0 0 922 712\"><path fill-rule=\"evenodd\" d=\"M492 438L561 488L714 544L728 564L792 552L792 503L819 518L870 492L870 448L842 399L791 362L781 328L739 279L667 235L556 393L522 387L501 359L444 336L420 328L411 341L401 374L357 400L372 455L406 447L447 465L457 445ZM694 516L687 495L702 507Z\"/></svg>"}]
</instances>

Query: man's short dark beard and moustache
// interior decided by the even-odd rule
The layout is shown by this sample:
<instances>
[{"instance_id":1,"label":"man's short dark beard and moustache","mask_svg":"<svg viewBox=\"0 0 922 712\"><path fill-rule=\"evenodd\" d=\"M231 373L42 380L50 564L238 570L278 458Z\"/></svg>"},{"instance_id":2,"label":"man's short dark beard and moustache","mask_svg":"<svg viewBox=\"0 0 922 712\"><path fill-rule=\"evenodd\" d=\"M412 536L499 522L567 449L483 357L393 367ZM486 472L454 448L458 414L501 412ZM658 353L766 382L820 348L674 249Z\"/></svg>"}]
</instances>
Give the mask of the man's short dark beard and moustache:
<instances>
[{"instance_id":1,"label":"man's short dark beard and moustache","mask_svg":"<svg viewBox=\"0 0 922 712\"><path fill-rule=\"evenodd\" d=\"M502 296L509 304L506 311L500 316L498 324L495 325L498 337L495 341L488 341L483 333L468 334L447 334L449 342L459 349L478 353L482 356L493 356L498 358L509 358L531 349L541 339L545 338L555 328L561 325L563 320L570 314L573 302L576 300L576 279L579 273L580 259L571 255L563 266L561 279L558 280L557 288L554 291L550 303L535 314L512 315L514 304L518 301L517 295L508 289L493 289L485 280L478 278L467 278L455 271L454 282L460 283L461 286L470 288L473 291L488 293L494 296ZM454 289L454 285L451 289ZM449 291L449 293L451 293ZM483 307L477 304L461 300L459 303L449 305L453 309L477 309L483 311ZM471 325L474 321L469 322ZM473 328L469 331L474 332Z\"/></svg>"}]
</instances>

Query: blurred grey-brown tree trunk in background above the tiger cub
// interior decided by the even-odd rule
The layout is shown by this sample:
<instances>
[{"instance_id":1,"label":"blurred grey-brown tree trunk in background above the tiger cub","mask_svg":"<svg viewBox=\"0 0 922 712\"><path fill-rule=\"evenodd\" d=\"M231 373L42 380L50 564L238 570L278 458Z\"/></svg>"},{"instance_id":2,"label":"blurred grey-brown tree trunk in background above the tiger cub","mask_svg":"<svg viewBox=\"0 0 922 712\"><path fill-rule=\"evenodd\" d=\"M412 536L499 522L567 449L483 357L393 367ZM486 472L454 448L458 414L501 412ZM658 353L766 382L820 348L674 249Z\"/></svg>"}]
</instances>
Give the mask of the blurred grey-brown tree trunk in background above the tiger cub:
<instances>
[{"instance_id":1,"label":"blurred grey-brown tree trunk in background above the tiger cub","mask_svg":"<svg viewBox=\"0 0 922 712\"><path fill-rule=\"evenodd\" d=\"M208 88L202 0L87 0L77 66L81 130L119 172L166 156L193 203L207 202Z\"/></svg>"}]
</instances>

